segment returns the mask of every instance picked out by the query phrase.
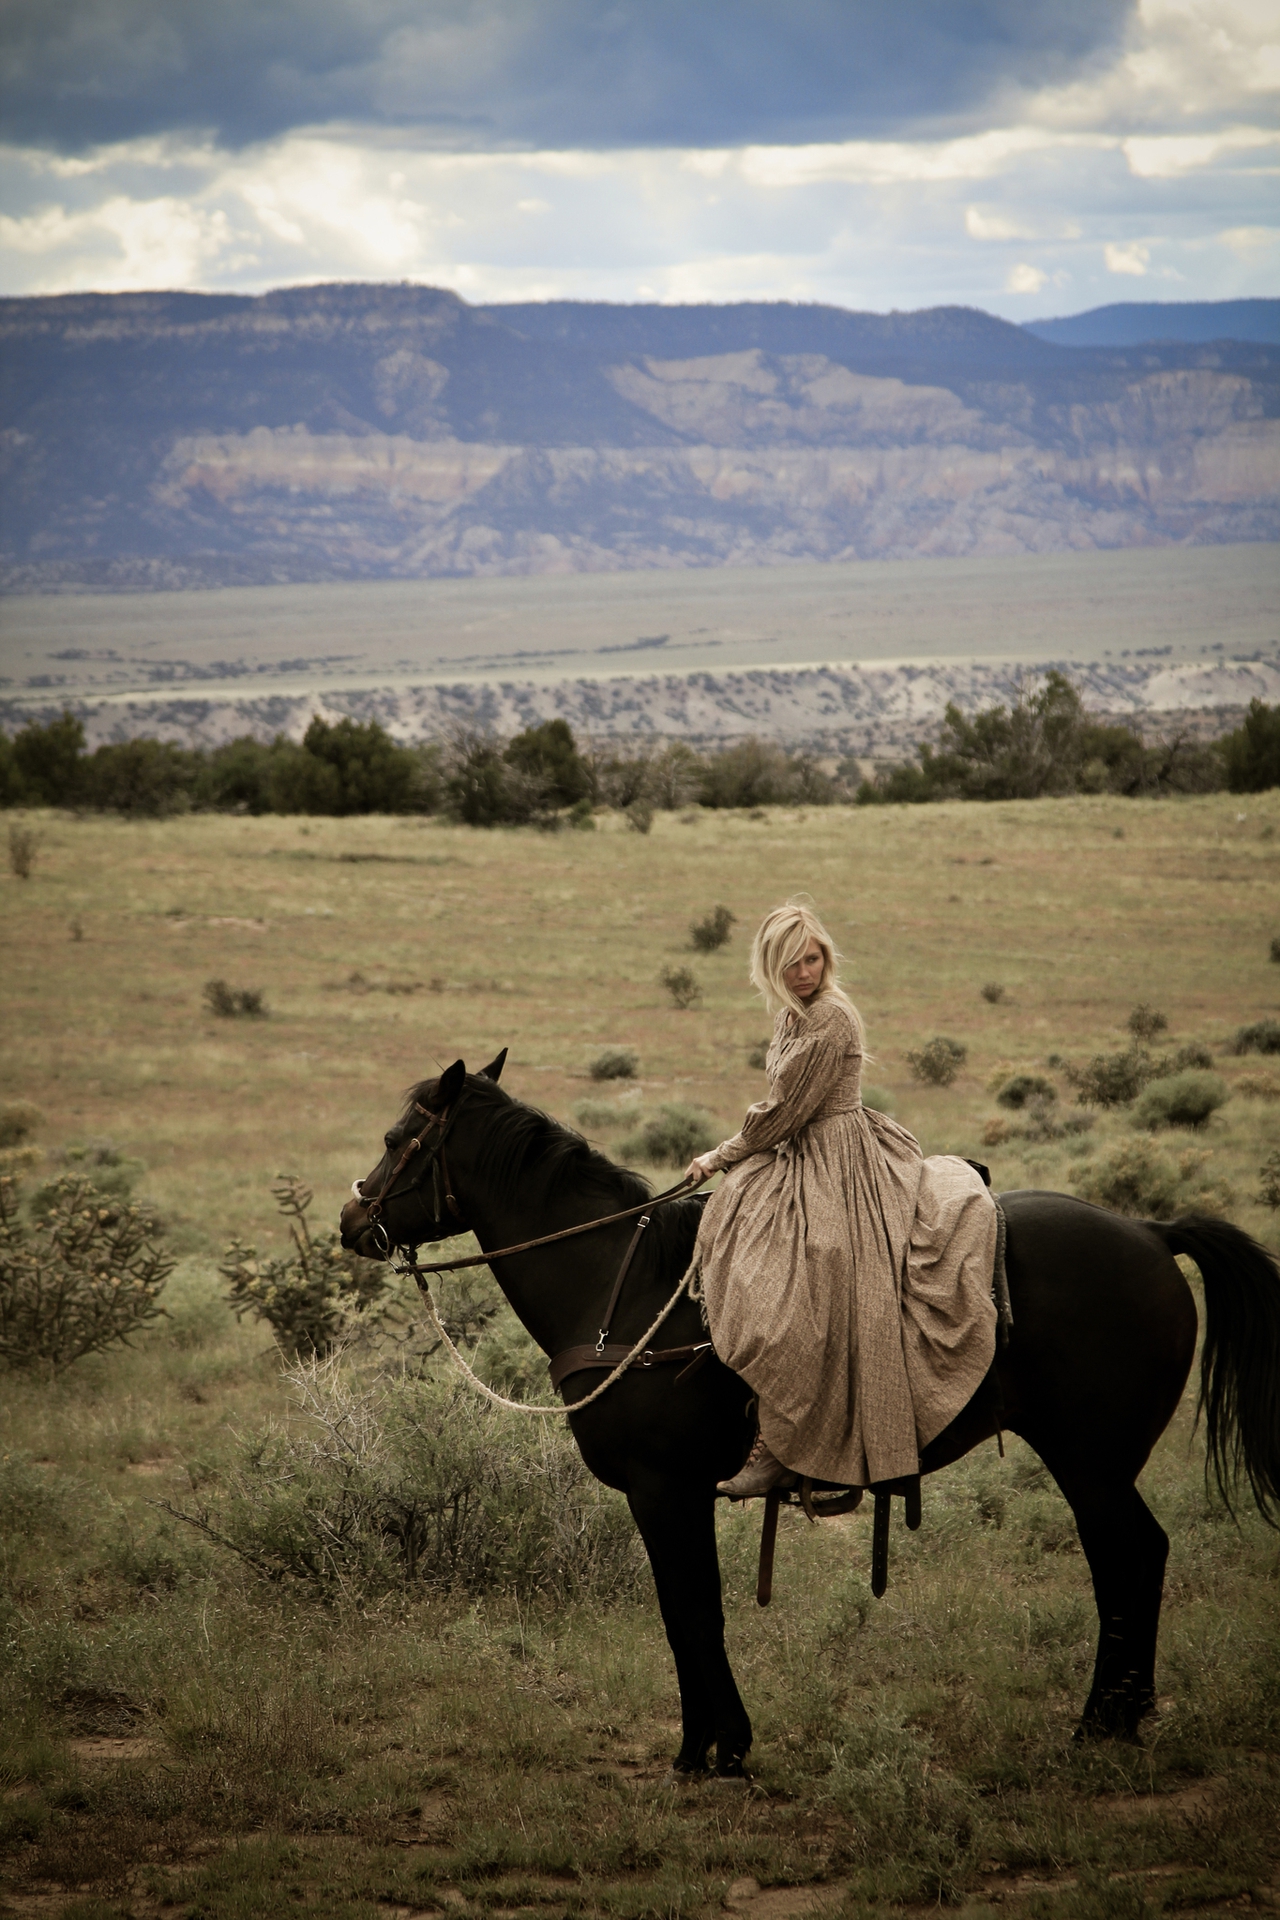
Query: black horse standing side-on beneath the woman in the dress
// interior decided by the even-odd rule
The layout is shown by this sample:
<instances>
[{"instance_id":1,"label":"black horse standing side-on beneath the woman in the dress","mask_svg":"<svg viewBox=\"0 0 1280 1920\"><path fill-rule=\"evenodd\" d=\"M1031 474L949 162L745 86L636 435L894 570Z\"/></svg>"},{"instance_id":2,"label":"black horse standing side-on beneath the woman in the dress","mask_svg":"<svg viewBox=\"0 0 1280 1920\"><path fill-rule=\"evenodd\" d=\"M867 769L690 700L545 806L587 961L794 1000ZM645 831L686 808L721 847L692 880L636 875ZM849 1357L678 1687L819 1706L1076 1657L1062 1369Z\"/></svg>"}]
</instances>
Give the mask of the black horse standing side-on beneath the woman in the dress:
<instances>
[{"instance_id":1,"label":"black horse standing side-on beneath the woman in the dress","mask_svg":"<svg viewBox=\"0 0 1280 1920\"><path fill-rule=\"evenodd\" d=\"M342 1210L344 1246L372 1258L468 1227L486 1252L601 1219L649 1196L545 1114L455 1062L422 1081L386 1152ZM1280 1517L1280 1267L1226 1221L1123 1219L1054 1192L1002 1194L1013 1336L969 1405L933 1440L921 1473L1009 1428L1040 1455L1071 1503L1094 1578L1100 1638L1080 1736L1136 1738L1155 1701L1155 1636L1169 1538L1134 1480L1178 1405L1196 1348L1196 1302L1174 1261L1190 1254L1205 1288L1199 1405L1207 1467L1228 1505L1242 1480ZM370 1212L372 1208L372 1212ZM654 1208L614 1315L631 1346L689 1265L702 1202ZM493 1261L493 1275L547 1354L597 1340L633 1221ZM681 1298L662 1342L706 1340ZM570 1373L566 1402L601 1382ZM716 1480L741 1467L752 1415L747 1384L720 1361L685 1371L637 1363L570 1415L581 1455L626 1494L658 1590L679 1678L683 1740L674 1766L741 1776L750 1747L723 1644Z\"/></svg>"}]
</instances>

